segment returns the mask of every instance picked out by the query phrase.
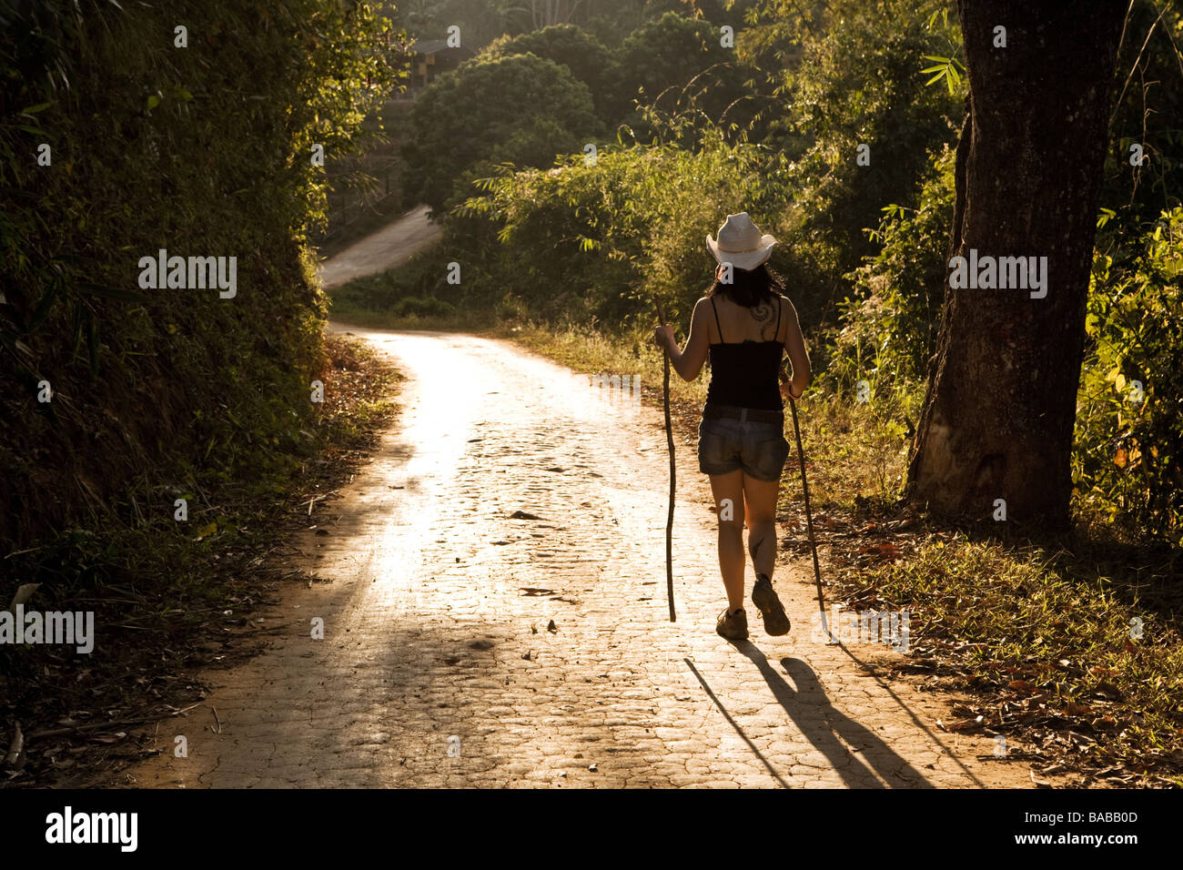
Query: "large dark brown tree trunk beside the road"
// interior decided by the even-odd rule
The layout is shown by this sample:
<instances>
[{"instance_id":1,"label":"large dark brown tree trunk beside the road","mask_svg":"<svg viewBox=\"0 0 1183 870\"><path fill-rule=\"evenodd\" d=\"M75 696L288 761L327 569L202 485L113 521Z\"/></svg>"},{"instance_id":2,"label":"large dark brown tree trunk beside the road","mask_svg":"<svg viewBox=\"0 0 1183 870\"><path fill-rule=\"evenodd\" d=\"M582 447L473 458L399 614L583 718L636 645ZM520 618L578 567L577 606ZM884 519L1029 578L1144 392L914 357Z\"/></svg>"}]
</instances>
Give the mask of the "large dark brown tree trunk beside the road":
<instances>
[{"instance_id":1,"label":"large dark brown tree trunk beside the road","mask_svg":"<svg viewBox=\"0 0 1183 870\"><path fill-rule=\"evenodd\" d=\"M1007 518L1062 527L1125 2L959 0L958 9L970 97L950 260L976 251L982 270L984 257L1046 257L1046 296L1001 289L997 275L994 289L958 289L950 266L909 497L983 517L1001 498ZM995 47L998 26L1006 47Z\"/></svg>"}]
</instances>

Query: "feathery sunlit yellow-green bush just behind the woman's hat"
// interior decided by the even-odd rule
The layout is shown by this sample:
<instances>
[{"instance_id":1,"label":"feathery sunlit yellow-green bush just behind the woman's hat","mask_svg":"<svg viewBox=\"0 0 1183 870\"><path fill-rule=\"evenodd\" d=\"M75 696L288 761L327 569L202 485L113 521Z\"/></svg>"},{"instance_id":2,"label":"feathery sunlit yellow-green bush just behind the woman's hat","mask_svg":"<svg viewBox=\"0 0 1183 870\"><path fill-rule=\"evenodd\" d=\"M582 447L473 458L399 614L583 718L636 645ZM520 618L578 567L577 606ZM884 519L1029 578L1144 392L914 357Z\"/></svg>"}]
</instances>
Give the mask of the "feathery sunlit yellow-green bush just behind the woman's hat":
<instances>
[{"instance_id":1,"label":"feathery sunlit yellow-green bush just behind the woman's hat","mask_svg":"<svg viewBox=\"0 0 1183 870\"><path fill-rule=\"evenodd\" d=\"M715 131L694 150L634 144L601 149L594 166L506 168L455 211L451 244L483 251L465 283L487 297L512 286L541 314L612 323L651 317L657 297L679 317L711 282L705 237L729 212L749 211L776 234L784 204L764 180L780 165Z\"/></svg>"}]
</instances>

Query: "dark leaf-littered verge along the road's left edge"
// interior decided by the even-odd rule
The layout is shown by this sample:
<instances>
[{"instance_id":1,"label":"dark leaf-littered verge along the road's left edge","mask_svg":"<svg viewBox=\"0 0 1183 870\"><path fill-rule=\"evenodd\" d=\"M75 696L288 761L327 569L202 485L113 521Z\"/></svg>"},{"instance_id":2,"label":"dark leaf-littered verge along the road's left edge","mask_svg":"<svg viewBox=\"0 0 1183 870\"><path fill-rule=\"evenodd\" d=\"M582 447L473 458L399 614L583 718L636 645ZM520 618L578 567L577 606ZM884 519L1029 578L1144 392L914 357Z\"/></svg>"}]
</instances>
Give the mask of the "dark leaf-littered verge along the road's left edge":
<instances>
[{"instance_id":1,"label":"dark leaf-littered verge along the road's left edge","mask_svg":"<svg viewBox=\"0 0 1183 870\"><path fill-rule=\"evenodd\" d=\"M325 400L283 463L274 462L279 447L256 442L266 469L256 479L180 469L175 485L141 482L85 527L5 560L7 576L39 584L26 608L92 611L95 646L89 655L0 646L0 743L8 746L18 723L25 736L19 766L0 787L102 784L138 758L127 736L134 724L198 701L206 689L199 670L261 647L258 613L277 602L278 587L315 579L285 562L284 537L318 521L319 500L371 449L396 411L399 380L361 342L330 336L325 352ZM174 502L182 497L188 520L179 522Z\"/></svg>"}]
</instances>

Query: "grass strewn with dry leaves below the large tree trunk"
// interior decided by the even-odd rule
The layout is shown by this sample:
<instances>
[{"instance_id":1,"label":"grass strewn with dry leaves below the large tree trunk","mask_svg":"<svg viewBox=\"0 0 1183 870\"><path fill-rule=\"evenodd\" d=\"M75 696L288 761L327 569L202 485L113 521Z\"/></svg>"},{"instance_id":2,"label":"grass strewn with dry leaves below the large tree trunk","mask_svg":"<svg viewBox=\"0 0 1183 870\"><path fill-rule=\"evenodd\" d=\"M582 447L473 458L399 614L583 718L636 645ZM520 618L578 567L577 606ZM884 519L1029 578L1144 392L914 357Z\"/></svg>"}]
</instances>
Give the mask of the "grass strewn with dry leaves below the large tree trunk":
<instances>
[{"instance_id":1,"label":"grass strewn with dry leaves below the large tree trunk","mask_svg":"<svg viewBox=\"0 0 1183 870\"><path fill-rule=\"evenodd\" d=\"M1079 785L1183 786L1177 554L964 530L894 546L841 585L855 608L907 610L911 659L975 691L946 730L1006 735Z\"/></svg>"}]
</instances>

